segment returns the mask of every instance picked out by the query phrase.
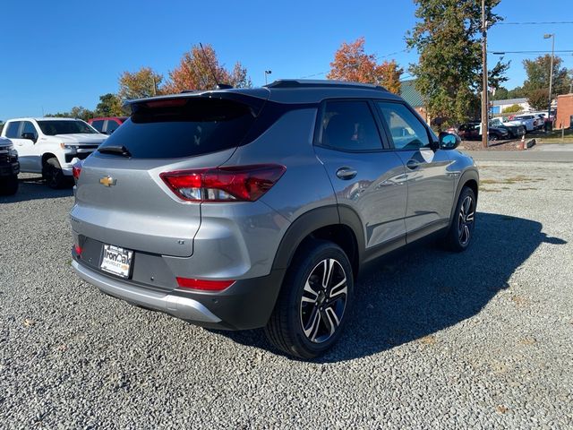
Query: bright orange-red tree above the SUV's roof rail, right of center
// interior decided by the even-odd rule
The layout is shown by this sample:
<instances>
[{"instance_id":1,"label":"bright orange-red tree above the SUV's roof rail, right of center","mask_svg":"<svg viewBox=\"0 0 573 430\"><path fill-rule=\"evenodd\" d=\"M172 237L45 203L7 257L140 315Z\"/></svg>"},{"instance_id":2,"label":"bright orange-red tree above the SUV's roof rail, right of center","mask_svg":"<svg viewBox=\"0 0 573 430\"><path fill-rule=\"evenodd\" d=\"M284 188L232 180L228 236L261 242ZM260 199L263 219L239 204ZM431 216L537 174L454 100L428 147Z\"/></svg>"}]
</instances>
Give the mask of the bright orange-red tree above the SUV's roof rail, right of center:
<instances>
[{"instance_id":1,"label":"bright orange-red tree above the SUV's roof rail, right of center","mask_svg":"<svg viewBox=\"0 0 573 430\"><path fill-rule=\"evenodd\" d=\"M396 61L384 61L378 64L376 56L364 51L364 38L354 42L343 42L334 54L330 63L328 79L338 81L374 83L382 85L387 90L398 94L400 92L400 74L404 72Z\"/></svg>"}]
</instances>

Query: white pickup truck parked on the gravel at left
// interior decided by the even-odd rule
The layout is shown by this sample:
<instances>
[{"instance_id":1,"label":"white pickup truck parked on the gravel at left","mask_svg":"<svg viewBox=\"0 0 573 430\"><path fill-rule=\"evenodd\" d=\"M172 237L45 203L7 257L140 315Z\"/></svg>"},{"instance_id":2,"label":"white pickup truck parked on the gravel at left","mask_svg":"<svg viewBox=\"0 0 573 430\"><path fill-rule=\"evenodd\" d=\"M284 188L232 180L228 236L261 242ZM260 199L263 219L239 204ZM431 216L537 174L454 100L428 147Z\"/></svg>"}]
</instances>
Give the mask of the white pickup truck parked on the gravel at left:
<instances>
[{"instance_id":1,"label":"white pickup truck parked on the gravel at left","mask_svg":"<svg viewBox=\"0 0 573 430\"><path fill-rule=\"evenodd\" d=\"M73 164L85 159L107 139L91 125L73 118L15 118L6 121L20 159L20 171L41 173L52 188L72 179Z\"/></svg>"}]
</instances>

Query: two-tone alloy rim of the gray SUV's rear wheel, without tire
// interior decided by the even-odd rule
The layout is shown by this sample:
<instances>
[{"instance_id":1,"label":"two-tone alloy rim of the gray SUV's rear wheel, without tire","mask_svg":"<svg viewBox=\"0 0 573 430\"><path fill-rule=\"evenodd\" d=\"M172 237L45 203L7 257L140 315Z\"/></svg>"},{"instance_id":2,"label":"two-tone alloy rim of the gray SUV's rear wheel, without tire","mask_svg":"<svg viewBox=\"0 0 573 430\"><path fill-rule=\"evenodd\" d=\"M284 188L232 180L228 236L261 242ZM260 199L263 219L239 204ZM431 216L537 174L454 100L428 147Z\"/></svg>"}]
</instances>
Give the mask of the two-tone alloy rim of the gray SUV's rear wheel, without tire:
<instances>
[{"instance_id":1,"label":"two-tone alloy rim of the gray SUV's rear wheel, without tire","mask_svg":"<svg viewBox=\"0 0 573 430\"><path fill-rule=\"evenodd\" d=\"M333 258L319 262L304 283L300 318L304 335L313 343L329 340L346 310L346 272Z\"/></svg>"}]
</instances>

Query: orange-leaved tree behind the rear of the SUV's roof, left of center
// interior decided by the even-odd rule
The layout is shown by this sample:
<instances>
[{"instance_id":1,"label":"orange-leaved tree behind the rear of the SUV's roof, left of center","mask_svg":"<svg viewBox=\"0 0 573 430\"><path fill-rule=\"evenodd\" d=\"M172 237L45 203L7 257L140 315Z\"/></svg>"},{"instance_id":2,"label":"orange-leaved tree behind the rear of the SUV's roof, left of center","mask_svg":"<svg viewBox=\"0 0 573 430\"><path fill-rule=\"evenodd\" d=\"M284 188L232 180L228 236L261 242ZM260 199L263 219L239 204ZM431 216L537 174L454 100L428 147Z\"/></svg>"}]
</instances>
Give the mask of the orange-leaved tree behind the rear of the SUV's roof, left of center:
<instances>
[{"instance_id":1,"label":"orange-leaved tree behind the rear of the SUV's roof, left of center","mask_svg":"<svg viewBox=\"0 0 573 430\"><path fill-rule=\"evenodd\" d=\"M179 66L169 72L169 80L161 89L164 93L177 93L183 90L212 90L218 83L228 83L235 88L248 88L252 82L246 68L237 62L229 72L219 64L215 49L198 45L185 52Z\"/></svg>"}]
</instances>

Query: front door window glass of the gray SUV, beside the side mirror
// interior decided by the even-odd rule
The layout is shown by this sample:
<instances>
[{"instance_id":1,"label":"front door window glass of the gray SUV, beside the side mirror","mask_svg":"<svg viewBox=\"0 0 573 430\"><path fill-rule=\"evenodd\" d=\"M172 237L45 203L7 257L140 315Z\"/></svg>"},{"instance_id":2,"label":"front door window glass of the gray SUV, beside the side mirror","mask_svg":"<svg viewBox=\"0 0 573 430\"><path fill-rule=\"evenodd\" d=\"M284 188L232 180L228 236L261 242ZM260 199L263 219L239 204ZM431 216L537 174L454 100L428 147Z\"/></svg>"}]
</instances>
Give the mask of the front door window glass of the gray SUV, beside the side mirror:
<instances>
[{"instance_id":1,"label":"front door window glass of the gray SUV, beside the side mirror","mask_svg":"<svg viewBox=\"0 0 573 430\"><path fill-rule=\"evenodd\" d=\"M428 131L422 122L401 103L377 102L381 116L389 127L394 148L417 150L430 147Z\"/></svg>"}]
</instances>

